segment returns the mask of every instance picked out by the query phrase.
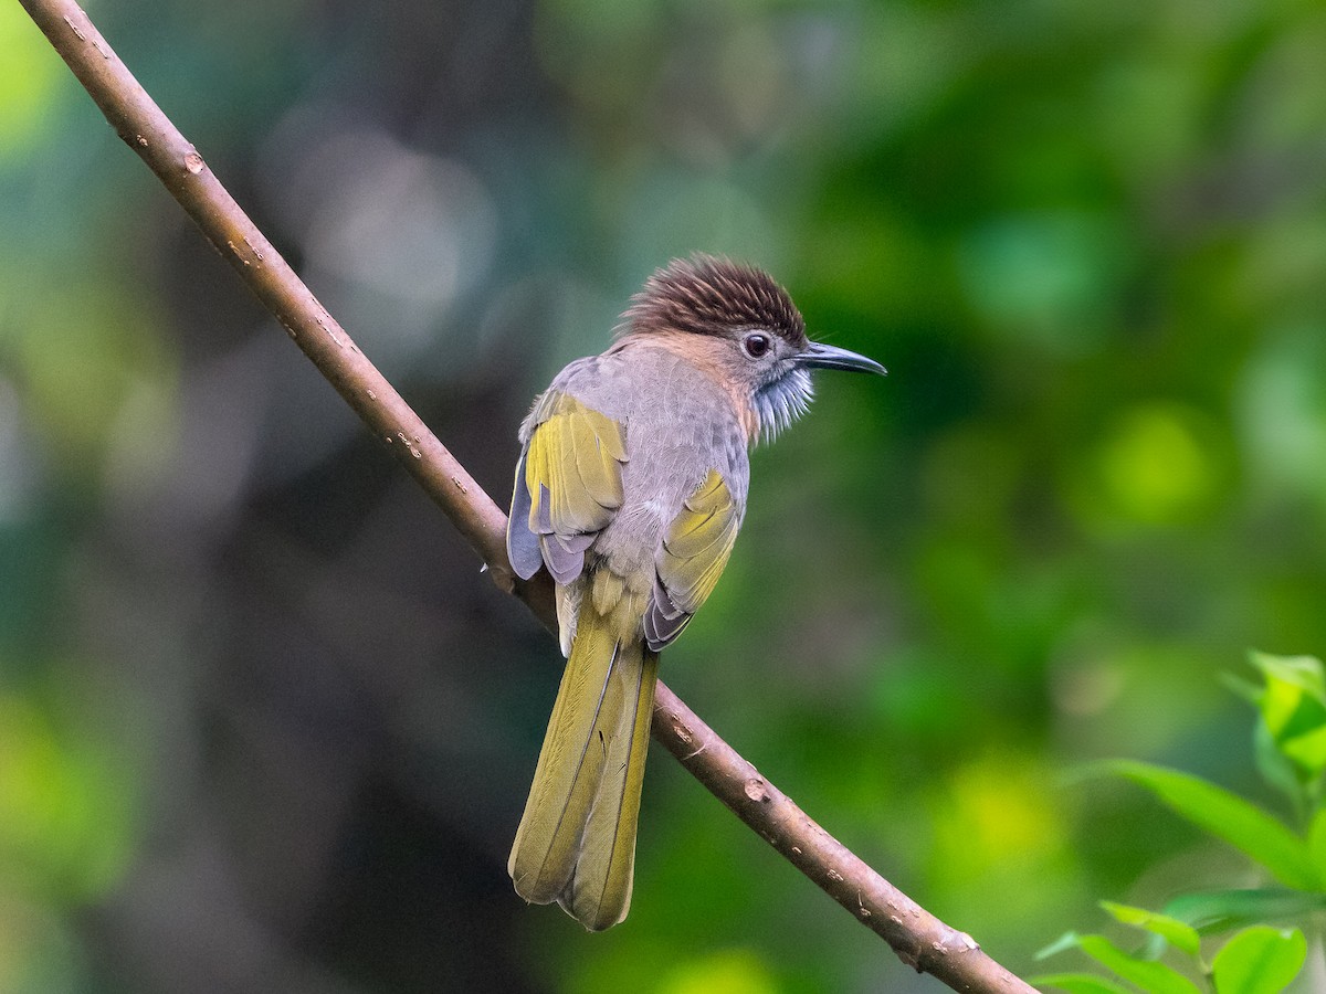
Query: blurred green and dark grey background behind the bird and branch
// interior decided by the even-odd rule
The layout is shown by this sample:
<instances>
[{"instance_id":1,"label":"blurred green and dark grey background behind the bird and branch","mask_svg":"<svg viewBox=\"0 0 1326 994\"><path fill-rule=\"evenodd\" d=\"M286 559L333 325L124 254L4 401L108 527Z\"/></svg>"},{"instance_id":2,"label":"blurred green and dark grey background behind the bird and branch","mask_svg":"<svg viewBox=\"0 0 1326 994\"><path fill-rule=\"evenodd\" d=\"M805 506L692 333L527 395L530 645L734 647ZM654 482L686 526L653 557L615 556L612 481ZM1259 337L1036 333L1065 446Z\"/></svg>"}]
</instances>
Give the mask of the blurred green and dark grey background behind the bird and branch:
<instances>
[{"instance_id":1,"label":"blurred green and dark grey background behind the bird and branch","mask_svg":"<svg viewBox=\"0 0 1326 994\"><path fill-rule=\"evenodd\" d=\"M1126 755L1266 798L1244 652L1326 651L1326 5L97 3L504 502L656 265L822 375L664 675L1014 970L1253 883ZM558 668L0 4L0 990L932 991L663 754L625 925L507 848Z\"/></svg>"}]
</instances>

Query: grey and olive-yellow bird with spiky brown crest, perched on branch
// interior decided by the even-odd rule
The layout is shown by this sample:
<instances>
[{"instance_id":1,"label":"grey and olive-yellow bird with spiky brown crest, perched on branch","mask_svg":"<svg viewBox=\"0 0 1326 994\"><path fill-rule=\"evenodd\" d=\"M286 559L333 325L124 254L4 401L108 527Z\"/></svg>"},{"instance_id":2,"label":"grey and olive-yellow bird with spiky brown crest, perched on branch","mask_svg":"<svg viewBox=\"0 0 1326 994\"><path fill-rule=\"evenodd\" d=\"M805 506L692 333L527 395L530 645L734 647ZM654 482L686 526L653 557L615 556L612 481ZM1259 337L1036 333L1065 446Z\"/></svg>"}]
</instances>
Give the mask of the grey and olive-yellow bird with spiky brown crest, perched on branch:
<instances>
[{"instance_id":1,"label":"grey and olive-yellow bird with spiky brown crest, perched on branch","mask_svg":"<svg viewBox=\"0 0 1326 994\"><path fill-rule=\"evenodd\" d=\"M631 903L659 651L717 583L748 452L805 414L814 368L884 372L809 341L761 270L674 260L521 424L507 551L521 578L556 580L568 663L508 869L590 930Z\"/></svg>"}]
</instances>

